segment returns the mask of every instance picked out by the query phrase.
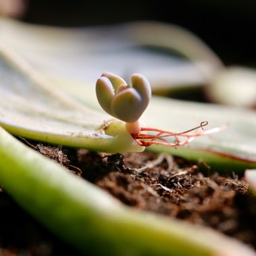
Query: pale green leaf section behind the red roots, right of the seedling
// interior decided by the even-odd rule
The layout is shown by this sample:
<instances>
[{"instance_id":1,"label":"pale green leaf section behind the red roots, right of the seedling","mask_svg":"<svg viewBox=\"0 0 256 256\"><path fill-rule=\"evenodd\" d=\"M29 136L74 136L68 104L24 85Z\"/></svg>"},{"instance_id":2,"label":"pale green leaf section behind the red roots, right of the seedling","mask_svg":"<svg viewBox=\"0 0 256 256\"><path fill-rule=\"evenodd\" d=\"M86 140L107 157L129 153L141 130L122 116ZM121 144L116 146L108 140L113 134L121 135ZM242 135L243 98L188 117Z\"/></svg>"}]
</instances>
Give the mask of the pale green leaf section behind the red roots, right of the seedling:
<instances>
[{"instance_id":1,"label":"pale green leaf section behind the red roots, right of the seedling","mask_svg":"<svg viewBox=\"0 0 256 256\"><path fill-rule=\"evenodd\" d=\"M224 131L197 137L188 148L150 146L150 149L183 156L224 172L256 166L256 113L253 110L154 97L143 118L150 127L172 131L186 131L202 121L209 122L205 129L227 125Z\"/></svg>"}]
</instances>

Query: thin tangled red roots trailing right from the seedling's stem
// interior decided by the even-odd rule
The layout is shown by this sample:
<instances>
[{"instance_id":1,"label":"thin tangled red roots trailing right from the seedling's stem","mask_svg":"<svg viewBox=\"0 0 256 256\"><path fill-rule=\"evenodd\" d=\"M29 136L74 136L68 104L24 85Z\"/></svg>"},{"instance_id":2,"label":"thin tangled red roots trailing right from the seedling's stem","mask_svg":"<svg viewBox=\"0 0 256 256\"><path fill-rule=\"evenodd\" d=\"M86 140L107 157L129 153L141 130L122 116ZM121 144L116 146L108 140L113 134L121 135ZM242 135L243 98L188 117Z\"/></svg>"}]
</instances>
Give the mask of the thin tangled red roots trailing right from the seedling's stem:
<instances>
[{"instance_id":1,"label":"thin tangled red roots trailing right from the seedling's stem","mask_svg":"<svg viewBox=\"0 0 256 256\"><path fill-rule=\"evenodd\" d=\"M154 144L154 145L162 145L162 146L177 148L179 146L188 146L189 143L195 140L195 137L199 137L203 135L211 135L212 133L218 133L219 131L226 129L226 125L223 125L221 127L215 127L210 130L204 130L203 127L205 127L205 125L207 124L208 124L207 121L203 121L199 126L189 129L187 131L183 131L181 133L177 133L175 131L164 131L162 129L156 129L156 128L150 128L150 127L141 127L141 130L139 133L133 133L131 134L131 136L139 146L148 147ZM200 129L200 130L195 133L190 133L191 131L195 131L196 129ZM152 134L141 133L143 131L153 131L153 132L155 131L157 134L152 135ZM170 137L170 136L174 137L174 142L170 142L170 141L167 141L167 139L164 139L164 137ZM185 137L185 139L181 139L181 137Z\"/></svg>"}]
</instances>

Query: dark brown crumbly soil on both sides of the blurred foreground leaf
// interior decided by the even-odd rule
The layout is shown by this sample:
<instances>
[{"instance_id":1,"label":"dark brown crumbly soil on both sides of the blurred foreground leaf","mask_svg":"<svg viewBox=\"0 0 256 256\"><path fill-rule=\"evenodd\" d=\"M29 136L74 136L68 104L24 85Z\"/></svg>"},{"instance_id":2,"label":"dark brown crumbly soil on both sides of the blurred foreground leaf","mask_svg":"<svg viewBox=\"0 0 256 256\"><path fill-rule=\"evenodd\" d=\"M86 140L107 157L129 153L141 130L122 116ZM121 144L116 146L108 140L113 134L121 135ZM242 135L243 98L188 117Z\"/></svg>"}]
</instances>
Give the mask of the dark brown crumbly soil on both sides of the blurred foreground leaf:
<instances>
[{"instance_id":1,"label":"dark brown crumbly soil on both sides of the blurred foreground leaf","mask_svg":"<svg viewBox=\"0 0 256 256\"><path fill-rule=\"evenodd\" d=\"M168 154L103 154L28 142L131 207L210 226L256 249L256 199L234 173L223 176ZM0 255L79 255L0 189Z\"/></svg>"}]
</instances>

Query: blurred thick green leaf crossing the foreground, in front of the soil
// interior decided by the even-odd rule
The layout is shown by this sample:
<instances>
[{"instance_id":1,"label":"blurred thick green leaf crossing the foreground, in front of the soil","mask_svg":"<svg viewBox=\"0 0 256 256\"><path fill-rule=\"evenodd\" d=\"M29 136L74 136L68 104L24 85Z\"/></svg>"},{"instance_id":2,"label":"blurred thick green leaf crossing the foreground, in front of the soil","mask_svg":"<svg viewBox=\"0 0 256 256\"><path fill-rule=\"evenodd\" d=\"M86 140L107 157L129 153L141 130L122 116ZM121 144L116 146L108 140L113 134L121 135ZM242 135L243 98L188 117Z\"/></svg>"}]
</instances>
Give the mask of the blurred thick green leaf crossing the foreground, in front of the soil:
<instances>
[{"instance_id":1,"label":"blurred thick green leaf crossing the foreground, in front of the soil","mask_svg":"<svg viewBox=\"0 0 256 256\"><path fill-rule=\"evenodd\" d=\"M1 127L0 181L44 226L89 255L255 255L209 228L121 205Z\"/></svg>"}]
</instances>

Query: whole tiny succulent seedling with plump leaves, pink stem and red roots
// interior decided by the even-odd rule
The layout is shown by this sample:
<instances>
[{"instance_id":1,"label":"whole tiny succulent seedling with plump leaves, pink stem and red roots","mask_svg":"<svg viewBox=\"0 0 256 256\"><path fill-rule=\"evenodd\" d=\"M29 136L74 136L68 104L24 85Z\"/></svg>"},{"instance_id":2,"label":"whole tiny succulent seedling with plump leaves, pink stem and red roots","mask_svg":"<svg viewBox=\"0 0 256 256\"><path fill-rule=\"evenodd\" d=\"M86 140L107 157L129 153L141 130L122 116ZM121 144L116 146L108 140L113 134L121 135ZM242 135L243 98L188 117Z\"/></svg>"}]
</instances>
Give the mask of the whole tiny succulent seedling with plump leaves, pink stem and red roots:
<instances>
[{"instance_id":1,"label":"whole tiny succulent seedling with plump leaves, pink stem and red roots","mask_svg":"<svg viewBox=\"0 0 256 256\"><path fill-rule=\"evenodd\" d=\"M203 127L208 124L207 121L183 132L141 127L139 118L150 102L151 88L148 79L139 73L131 75L131 86L118 75L109 72L102 73L96 82L96 95L100 106L106 113L126 122L127 131L139 146L152 144L171 147L187 146L195 137L216 133L226 127L216 127L205 131ZM197 129L199 130L195 133L190 133ZM152 135L147 132L155 132L156 134ZM174 142L164 139L164 137L170 136L174 137Z\"/></svg>"}]
</instances>

